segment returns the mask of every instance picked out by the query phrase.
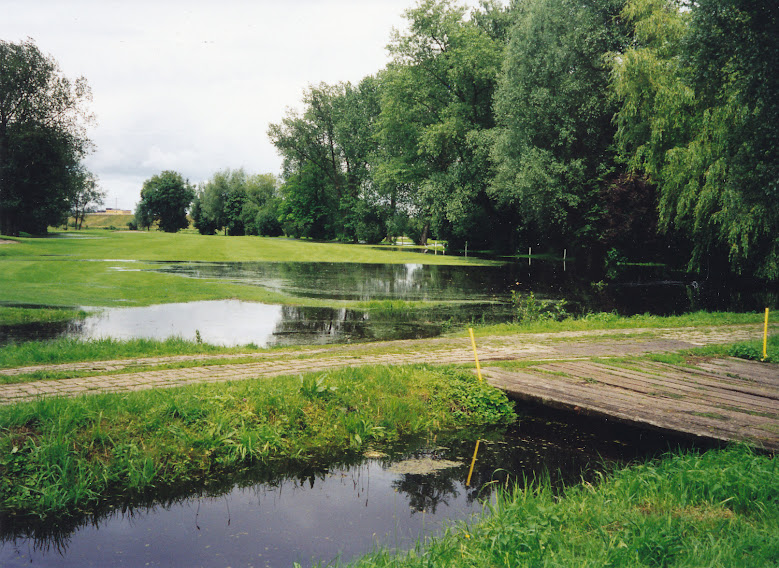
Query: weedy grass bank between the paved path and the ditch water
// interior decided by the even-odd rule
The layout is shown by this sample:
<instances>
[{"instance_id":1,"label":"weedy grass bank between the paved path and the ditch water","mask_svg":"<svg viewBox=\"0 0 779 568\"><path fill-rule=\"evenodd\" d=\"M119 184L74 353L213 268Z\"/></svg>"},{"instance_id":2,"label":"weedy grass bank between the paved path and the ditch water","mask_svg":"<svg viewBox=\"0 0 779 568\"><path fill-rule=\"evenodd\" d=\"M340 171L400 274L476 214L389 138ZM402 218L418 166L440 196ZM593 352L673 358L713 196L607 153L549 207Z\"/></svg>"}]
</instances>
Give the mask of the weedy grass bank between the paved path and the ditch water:
<instances>
[{"instance_id":1,"label":"weedy grass bank between the paved path and the ditch water","mask_svg":"<svg viewBox=\"0 0 779 568\"><path fill-rule=\"evenodd\" d=\"M369 367L0 407L0 509L60 517L246 467L512 420L472 374Z\"/></svg>"}]
</instances>

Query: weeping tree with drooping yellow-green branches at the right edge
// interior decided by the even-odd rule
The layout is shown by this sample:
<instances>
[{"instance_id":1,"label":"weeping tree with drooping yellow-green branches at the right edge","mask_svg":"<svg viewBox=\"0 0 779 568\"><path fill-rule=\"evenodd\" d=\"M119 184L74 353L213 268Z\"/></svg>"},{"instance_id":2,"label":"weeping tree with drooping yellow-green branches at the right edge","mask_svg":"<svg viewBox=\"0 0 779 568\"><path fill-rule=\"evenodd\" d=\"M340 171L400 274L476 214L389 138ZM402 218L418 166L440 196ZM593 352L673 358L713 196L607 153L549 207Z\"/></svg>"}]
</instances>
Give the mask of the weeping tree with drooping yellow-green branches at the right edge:
<instances>
[{"instance_id":1,"label":"weeping tree with drooping yellow-green branches at the right edge","mask_svg":"<svg viewBox=\"0 0 779 568\"><path fill-rule=\"evenodd\" d=\"M693 270L779 279L779 8L631 0L636 45L614 62L620 149L660 190L660 226Z\"/></svg>"}]
</instances>

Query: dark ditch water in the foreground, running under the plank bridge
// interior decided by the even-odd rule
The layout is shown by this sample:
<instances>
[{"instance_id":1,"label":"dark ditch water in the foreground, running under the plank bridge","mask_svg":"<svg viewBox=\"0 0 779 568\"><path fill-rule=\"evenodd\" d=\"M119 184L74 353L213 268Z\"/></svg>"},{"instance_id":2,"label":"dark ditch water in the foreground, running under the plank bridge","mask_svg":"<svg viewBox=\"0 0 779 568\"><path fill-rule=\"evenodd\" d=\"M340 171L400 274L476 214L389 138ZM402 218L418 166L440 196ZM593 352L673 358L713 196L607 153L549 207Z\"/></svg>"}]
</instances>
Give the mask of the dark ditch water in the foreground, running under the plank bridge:
<instances>
[{"instance_id":1,"label":"dark ditch water in the foreground, running under the plank bridge","mask_svg":"<svg viewBox=\"0 0 779 568\"><path fill-rule=\"evenodd\" d=\"M377 544L409 549L443 525L467 520L507 480L548 471L556 483L578 483L605 464L678 443L600 421L570 422L539 409L508 430L469 433L468 441L427 440L388 456L271 479L249 476L70 525L16 525L0 517L0 565L289 567L349 560ZM483 441L466 487L476 437Z\"/></svg>"}]
</instances>

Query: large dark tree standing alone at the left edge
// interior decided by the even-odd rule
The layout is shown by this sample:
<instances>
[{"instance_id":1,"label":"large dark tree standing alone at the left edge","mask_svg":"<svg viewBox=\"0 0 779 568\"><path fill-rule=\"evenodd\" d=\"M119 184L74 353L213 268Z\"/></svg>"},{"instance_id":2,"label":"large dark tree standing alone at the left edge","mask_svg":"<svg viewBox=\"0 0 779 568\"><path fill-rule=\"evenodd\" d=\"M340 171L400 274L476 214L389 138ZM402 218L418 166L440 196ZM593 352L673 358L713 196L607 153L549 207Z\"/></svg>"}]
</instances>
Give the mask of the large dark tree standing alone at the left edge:
<instances>
[{"instance_id":1,"label":"large dark tree standing alone at the left edge","mask_svg":"<svg viewBox=\"0 0 779 568\"><path fill-rule=\"evenodd\" d=\"M86 80L62 76L32 41L0 40L0 233L45 233L70 209L91 150Z\"/></svg>"}]
</instances>

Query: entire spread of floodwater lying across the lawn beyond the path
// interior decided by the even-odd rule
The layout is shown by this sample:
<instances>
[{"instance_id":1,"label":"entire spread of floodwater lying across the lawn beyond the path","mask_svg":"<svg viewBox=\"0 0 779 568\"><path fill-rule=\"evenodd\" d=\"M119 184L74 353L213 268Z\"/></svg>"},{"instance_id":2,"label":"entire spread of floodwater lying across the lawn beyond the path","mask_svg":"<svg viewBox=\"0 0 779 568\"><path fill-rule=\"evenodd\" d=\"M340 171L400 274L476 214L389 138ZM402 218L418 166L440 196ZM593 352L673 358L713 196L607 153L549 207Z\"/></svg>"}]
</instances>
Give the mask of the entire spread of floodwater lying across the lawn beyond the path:
<instances>
[{"instance_id":1,"label":"entire spread of floodwater lying across the lawn beyond the path","mask_svg":"<svg viewBox=\"0 0 779 568\"><path fill-rule=\"evenodd\" d=\"M119 270L132 263L116 262ZM350 301L445 302L418 310L354 310L264 305L239 301L191 302L142 308L108 308L85 320L0 327L0 343L73 337L93 339L180 336L221 345L347 343L434 337L452 326L510 321L512 290L541 300L568 300L574 312L683 313L697 309L762 310L775 290L684 283L662 269L625 274L605 289L593 287L563 262L512 262L501 266L423 264L166 262L152 270L261 286L300 298ZM767 302L767 303L766 303Z\"/></svg>"}]
</instances>

